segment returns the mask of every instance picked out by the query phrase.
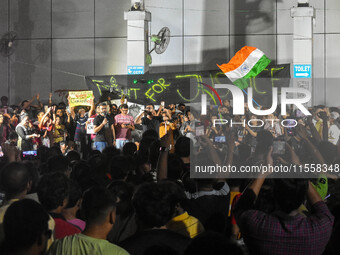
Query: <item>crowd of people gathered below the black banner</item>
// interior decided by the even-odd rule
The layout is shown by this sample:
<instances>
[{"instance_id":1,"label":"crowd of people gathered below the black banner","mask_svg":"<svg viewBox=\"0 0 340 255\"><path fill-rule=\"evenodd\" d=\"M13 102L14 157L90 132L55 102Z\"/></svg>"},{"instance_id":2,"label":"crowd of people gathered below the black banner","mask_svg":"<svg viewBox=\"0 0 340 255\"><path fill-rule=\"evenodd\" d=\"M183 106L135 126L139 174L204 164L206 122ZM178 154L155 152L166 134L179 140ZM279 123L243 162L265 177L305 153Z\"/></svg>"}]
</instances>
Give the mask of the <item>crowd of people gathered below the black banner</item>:
<instances>
[{"instance_id":1,"label":"crowd of people gathered below the black banner","mask_svg":"<svg viewBox=\"0 0 340 255\"><path fill-rule=\"evenodd\" d=\"M3 96L0 254L338 254L340 109L308 110L234 116L225 99L205 115L161 102L132 117L124 100ZM194 179L194 158L323 171Z\"/></svg>"}]
</instances>

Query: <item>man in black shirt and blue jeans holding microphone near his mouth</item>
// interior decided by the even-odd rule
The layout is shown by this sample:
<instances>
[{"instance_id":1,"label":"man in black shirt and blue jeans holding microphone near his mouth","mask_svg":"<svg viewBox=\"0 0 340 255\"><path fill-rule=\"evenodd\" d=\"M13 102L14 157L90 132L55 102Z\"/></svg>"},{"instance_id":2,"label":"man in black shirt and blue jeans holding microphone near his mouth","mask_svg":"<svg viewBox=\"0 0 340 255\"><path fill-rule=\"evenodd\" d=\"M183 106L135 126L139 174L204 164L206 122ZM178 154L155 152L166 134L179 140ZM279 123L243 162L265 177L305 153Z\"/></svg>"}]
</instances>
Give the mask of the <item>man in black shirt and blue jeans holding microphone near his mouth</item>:
<instances>
[{"instance_id":1,"label":"man in black shirt and blue jeans holding microphone near his mouth","mask_svg":"<svg viewBox=\"0 0 340 255\"><path fill-rule=\"evenodd\" d=\"M99 104L99 114L93 120L93 125L94 132L96 133L94 145L97 150L102 152L112 139L113 145L115 145L114 120L107 114L107 105L105 103Z\"/></svg>"}]
</instances>

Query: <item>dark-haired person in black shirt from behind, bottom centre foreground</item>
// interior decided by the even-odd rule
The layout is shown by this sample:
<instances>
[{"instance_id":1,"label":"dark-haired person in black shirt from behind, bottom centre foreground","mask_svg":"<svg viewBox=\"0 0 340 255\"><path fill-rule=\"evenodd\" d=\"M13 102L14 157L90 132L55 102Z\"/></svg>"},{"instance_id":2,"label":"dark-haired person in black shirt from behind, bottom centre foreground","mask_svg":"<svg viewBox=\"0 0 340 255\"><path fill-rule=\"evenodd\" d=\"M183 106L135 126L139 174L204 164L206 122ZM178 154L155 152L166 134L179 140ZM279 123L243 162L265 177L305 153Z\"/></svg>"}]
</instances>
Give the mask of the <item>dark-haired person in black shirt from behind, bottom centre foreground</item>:
<instances>
[{"instance_id":1,"label":"dark-haired person in black shirt from behind, bottom centre foreground","mask_svg":"<svg viewBox=\"0 0 340 255\"><path fill-rule=\"evenodd\" d=\"M119 244L131 255L183 254L190 238L166 229L177 201L164 183L145 183L133 196L139 231ZM155 251L161 247L162 251ZM153 253L151 252L153 251Z\"/></svg>"}]
</instances>

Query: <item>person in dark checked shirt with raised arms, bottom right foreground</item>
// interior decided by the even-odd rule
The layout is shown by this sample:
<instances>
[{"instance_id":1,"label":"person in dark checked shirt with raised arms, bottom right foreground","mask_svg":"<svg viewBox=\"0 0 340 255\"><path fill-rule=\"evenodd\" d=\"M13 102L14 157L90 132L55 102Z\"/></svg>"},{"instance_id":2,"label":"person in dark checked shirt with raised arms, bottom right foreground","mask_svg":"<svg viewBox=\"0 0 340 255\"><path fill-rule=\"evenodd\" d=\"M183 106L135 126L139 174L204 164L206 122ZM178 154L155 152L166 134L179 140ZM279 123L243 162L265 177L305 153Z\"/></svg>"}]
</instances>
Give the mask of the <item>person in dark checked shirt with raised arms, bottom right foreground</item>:
<instances>
[{"instance_id":1,"label":"person in dark checked shirt with raised arms, bottom right foreground","mask_svg":"<svg viewBox=\"0 0 340 255\"><path fill-rule=\"evenodd\" d=\"M266 163L273 165L272 148L267 152ZM254 210L254 202L269 174L268 171L256 178L236 204L236 221L249 250L252 254L322 254L334 217L309 181L275 179L278 211L269 215ZM308 217L297 212L306 195L311 206Z\"/></svg>"}]
</instances>

